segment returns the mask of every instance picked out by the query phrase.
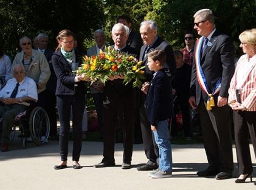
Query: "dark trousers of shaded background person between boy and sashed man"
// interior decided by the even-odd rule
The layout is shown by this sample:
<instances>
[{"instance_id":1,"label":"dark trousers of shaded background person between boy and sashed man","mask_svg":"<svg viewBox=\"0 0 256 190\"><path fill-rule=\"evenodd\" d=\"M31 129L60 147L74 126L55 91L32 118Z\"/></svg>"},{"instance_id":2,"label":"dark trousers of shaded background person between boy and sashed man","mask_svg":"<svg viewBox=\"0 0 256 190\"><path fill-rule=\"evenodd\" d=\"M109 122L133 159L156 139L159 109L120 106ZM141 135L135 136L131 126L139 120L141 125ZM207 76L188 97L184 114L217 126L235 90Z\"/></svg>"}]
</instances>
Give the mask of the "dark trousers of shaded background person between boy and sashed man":
<instances>
[{"instance_id":1,"label":"dark trousers of shaded background person between boy and sashed man","mask_svg":"<svg viewBox=\"0 0 256 190\"><path fill-rule=\"evenodd\" d=\"M183 121L183 130L185 137L192 136L192 128L190 126L190 115L189 115L189 98L187 96L182 96L182 94L178 94L177 99L175 101L175 116L178 113L178 106L181 108L182 113L182 121ZM171 125L171 136L177 136L177 124L176 117L173 117L172 125Z\"/></svg>"}]
</instances>

